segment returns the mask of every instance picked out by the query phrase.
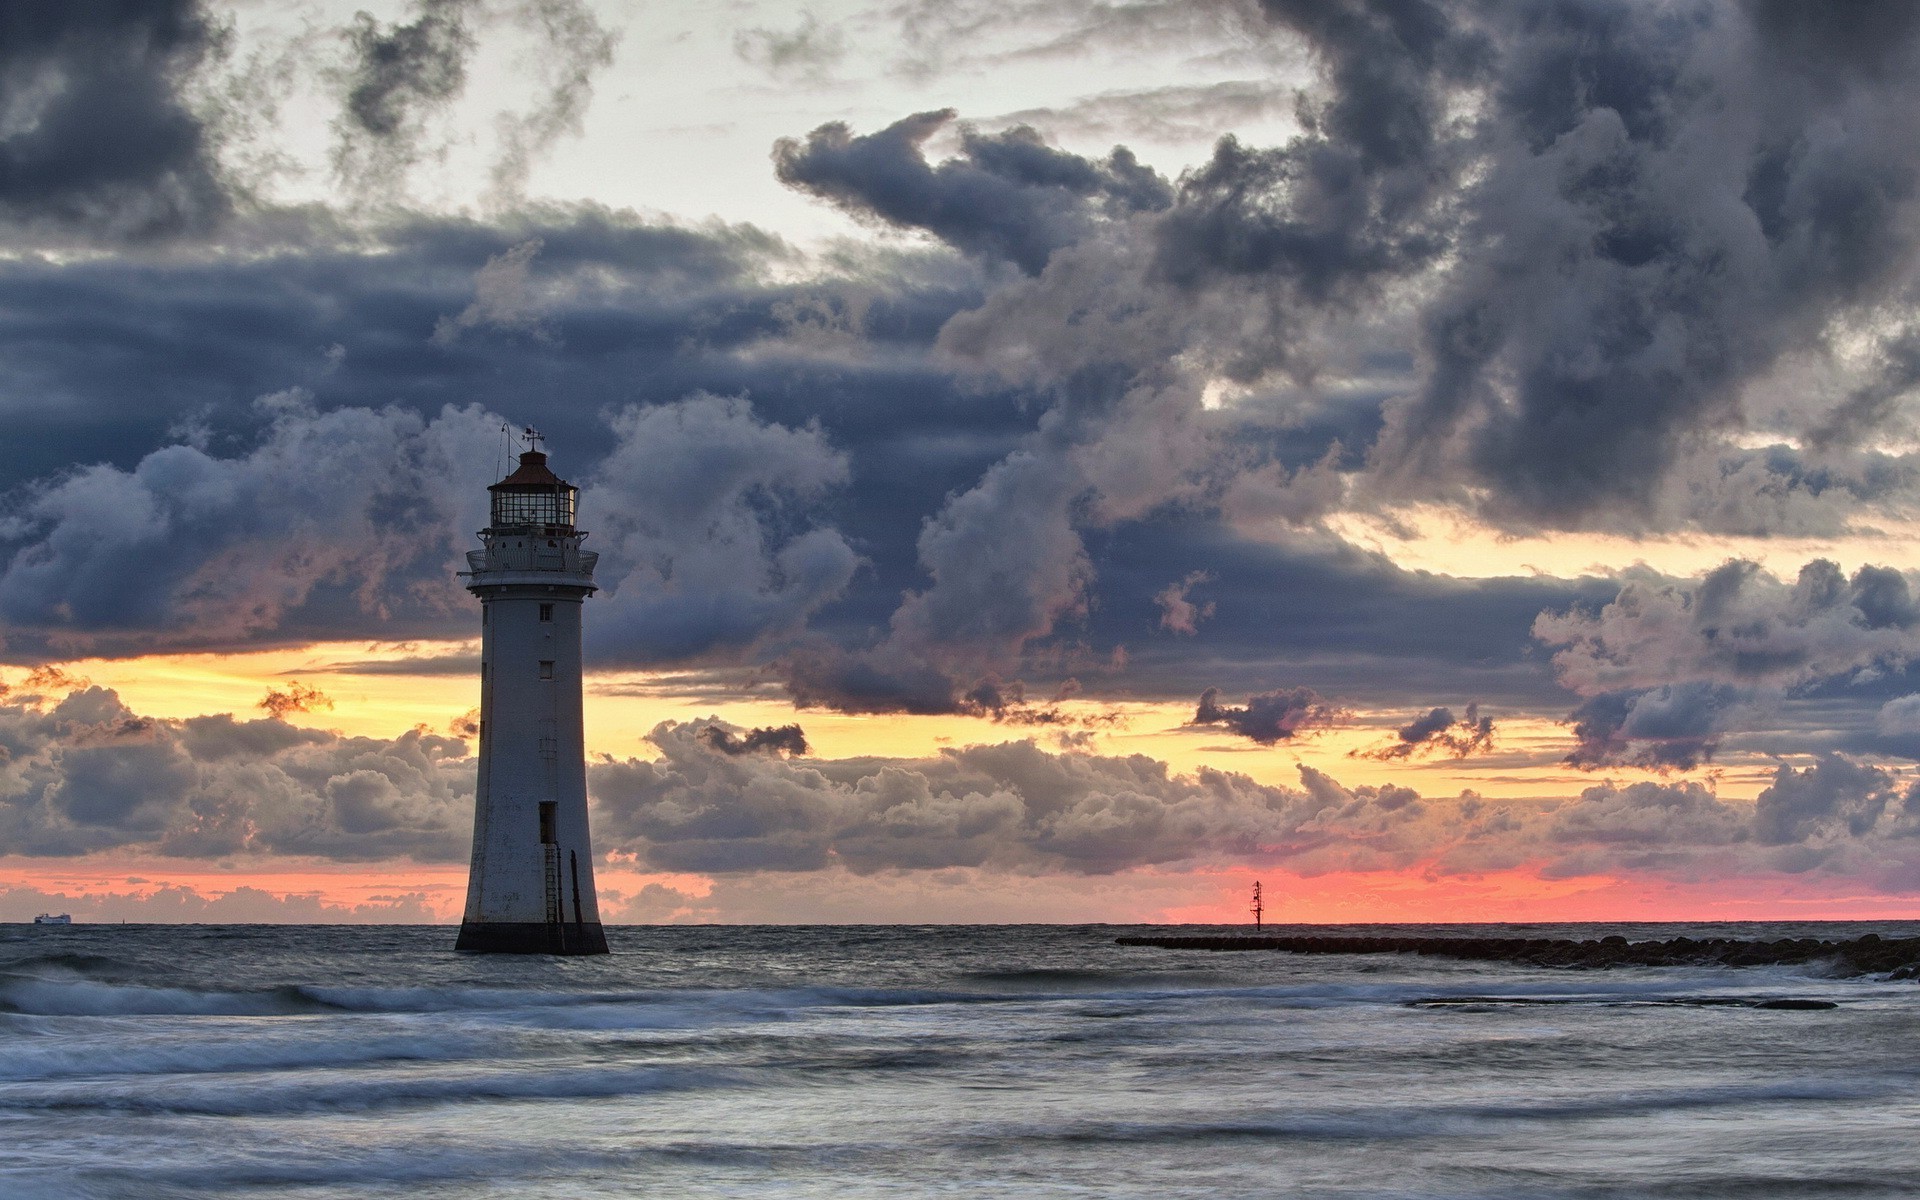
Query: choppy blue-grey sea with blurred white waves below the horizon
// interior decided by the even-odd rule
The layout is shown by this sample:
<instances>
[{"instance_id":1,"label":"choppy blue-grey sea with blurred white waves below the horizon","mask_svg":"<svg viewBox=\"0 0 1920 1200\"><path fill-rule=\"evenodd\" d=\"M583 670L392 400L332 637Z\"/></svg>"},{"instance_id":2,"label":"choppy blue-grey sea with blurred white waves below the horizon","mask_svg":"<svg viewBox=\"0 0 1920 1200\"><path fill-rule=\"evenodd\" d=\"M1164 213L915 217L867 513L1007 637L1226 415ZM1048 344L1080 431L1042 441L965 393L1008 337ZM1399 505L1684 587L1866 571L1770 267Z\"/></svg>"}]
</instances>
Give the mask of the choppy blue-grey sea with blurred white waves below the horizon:
<instances>
[{"instance_id":1,"label":"choppy blue-grey sea with blurred white waves below the horizon","mask_svg":"<svg viewBox=\"0 0 1920 1200\"><path fill-rule=\"evenodd\" d=\"M1920 983L1144 931L0 925L0 1196L1920 1192Z\"/></svg>"}]
</instances>

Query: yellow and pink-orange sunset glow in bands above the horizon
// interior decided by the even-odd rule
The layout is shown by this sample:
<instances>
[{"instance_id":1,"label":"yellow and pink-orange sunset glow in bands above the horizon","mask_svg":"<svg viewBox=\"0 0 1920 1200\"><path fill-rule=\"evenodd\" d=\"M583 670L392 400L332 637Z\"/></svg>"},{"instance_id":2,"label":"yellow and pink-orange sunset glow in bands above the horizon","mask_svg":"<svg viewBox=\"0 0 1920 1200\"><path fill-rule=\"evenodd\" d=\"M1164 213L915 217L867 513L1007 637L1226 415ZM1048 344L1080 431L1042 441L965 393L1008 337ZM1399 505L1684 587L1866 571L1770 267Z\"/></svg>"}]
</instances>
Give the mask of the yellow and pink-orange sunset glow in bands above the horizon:
<instances>
[{"instance_id":1,"label":"yellow and pink-orange sunset glow in bands above the horizon","mask_svg":"<svg viewBox=\"0 0 1920 1200\"><path fill-rule=\"evenodd\" d=\"M113 687L136 712L186 718L234 712L263 716L261 697L292 682L326 699L288 720L351 735L392 737L424 726L445 733L478 699L474 680L459 674L378 674L367 664L476 653L474 643L317 643L240 655L152 655L79 659L60 664L71 684ZM25 672L0 682L19 687ZM695 695L697 693L697 695ZM720 703L714 703L714 701ZM326 707L330 705L330 707ZM1400 783L1427 797L1473 791L1500 799L1567 797L1594 785L1590 774L1559 766L1567 749L1561 724L1507 718L1494 755L1467 760L1379 762L1357 751L1390 739L1402 712L1352 712L1340 728L1279 747L1235 743L1188 722L1188 703L1068 701L1089 724L1092 753L1140 753L1177 772L1200 766L1240 772L1271 785L1298 785L1300 766L1323 770L1346 785ZM995 726L970 716L851 716L795 712L768 691L741 689L716 697L672 674L599 674L588 680L588 751L614 758L651 758L645 733L662 720L720 716L739 726L803 722L818 756L924 758L941 747L1010 741L1048 733ZM1774 762L1730 758L1705 778L1724 799L1751 799ZM1651 772L1615 770L1617 781L1657 780ZM937 874L935 874L937 876ZM964 876L964 879L962 879ZM826 879L758 876L755 885L670 876L611 858L599 866L609 918L712 922L708 900L728 899L726 920L808 922L860 920L862 900L904 922L1194 922L1242 924L1246 893L1265 881L1269 922L1596 922L1596 920L1893 920L1920 918L1920 899L1874 895L1859 881L1832 877L1716 877L1672 881L1657 876L1542 877L1519 866L1486 874L1438 874L1425 866L1379 872L1290 876L1277 870L1194 866L1187 872L1131 870L1102 877L1048 877L989 887L995 899L962 897L947 874L893 879L826 872ZM29 910L71 908L94 920L296 920L296 922L457 922L465 900L465 864L234 860L194 862L161 856L92 854L73 860L0 856L0 920ZM678 897L641 904L653 893ZM826 895L839 887L841 895ZM664 889L664 891L662 891ZM651 895L651 893L649 893ZM15 912L17 910L17 912Z\"/></svg>"}]
</instances>

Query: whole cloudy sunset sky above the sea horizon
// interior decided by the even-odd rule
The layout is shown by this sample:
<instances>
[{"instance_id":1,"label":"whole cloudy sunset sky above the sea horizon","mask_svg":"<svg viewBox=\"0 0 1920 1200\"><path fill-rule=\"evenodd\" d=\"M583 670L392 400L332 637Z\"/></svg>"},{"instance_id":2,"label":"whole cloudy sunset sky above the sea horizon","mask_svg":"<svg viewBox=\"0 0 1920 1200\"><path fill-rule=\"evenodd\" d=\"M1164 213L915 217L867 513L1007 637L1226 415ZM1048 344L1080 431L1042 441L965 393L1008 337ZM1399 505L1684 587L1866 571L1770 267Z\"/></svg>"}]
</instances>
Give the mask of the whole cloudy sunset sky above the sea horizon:
<instances>
[{"instance_id":1,"label":"whole cloudy sunset sky above the sea horizon","mask_svg":"<svg viewBox=\"0 0 1920 1200\"><path fill-rule=\"evenodd\" d=\"M1920 918L1920 8L0 4L0 920Z\"/></svg>"}]
</instances>

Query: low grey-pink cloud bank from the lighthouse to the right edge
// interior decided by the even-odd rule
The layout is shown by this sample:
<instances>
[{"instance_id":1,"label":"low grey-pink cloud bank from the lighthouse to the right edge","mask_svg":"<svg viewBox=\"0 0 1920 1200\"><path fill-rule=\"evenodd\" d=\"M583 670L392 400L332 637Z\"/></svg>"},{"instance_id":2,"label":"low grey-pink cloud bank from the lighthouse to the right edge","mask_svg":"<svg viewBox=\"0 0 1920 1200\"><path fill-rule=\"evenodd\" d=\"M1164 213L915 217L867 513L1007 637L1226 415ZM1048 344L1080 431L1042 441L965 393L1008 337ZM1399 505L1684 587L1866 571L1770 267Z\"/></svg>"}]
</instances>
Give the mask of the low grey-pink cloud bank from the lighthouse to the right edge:
<instances>
[{"instance_id":1,"label":"low grey-pink cloud bank from the lighthouse to the right edge","mask_svg":"<svg viewBox=\"0 0 1920 1200\"><path fill-rule=\"evenodd\" d=\"M1782 768L1757 804L1692 781L1603 783L1540 803L1346 787L1311 768L1298 787L1271 787L1217 770L1179 776L1139 755L1052 755L1027 741L916 760L801 762L722 753L707 728L662 724L651 733L657 758L595 764L597 837L651 868L707 874L1425 864L1440 874L1701 877L1811 864L1872 885L1895 879L1887 864L1914 862L1920 851L1920 803L1887 772L1843 758Z\"/></svg>"}]
</instances>

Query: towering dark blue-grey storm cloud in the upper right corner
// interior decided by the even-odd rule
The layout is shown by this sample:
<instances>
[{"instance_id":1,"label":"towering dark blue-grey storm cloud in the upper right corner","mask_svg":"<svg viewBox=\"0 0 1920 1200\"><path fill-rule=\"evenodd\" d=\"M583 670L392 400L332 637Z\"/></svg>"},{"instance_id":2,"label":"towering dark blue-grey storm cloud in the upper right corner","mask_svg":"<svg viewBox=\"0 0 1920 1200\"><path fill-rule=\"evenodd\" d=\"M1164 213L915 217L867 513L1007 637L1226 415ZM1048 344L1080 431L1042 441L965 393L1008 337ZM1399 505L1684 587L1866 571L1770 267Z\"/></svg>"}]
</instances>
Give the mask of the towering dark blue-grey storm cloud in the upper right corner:
<instances>
[{"instance_id":1,"label":"towering dark blue-grey storm cloud in the upper right corner","mask_svg":"<svg viewBox=\"0 0 1920 1200\"><path fill-rule=\"evenodd\" d=\"M1914 23L1885 23L1872 58L1908 63L1887 73L1839 36L1807 54L1824 21L1757 12L1542 4L1486 27L1484 180L1382 467L1461 472L1517 524L1686 522L1661 492L1741 428L1741 392L1910 278Z\"/></svg>"}]
</instances>

